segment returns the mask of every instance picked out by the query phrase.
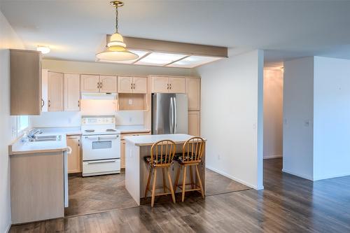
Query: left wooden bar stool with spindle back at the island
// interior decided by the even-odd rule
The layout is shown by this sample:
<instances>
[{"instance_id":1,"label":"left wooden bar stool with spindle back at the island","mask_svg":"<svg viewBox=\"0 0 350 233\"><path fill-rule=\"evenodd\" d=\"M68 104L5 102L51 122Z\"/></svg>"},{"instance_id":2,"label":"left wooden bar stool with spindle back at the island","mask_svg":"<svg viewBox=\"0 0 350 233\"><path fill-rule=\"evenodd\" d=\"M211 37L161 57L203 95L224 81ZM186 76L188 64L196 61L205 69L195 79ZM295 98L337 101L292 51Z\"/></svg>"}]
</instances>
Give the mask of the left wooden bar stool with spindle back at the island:
<instances>
[{"instance_id":1,"label":"left wooden bar stool with spindle back at the island","mask_svg":"<svg viewBox=\"0 0 350 233\"><path fill-rule=\"evenodd\" d=\"M176 151L176 145L172 140L162 140L153 143L151 147L151 156L144 157L146 164L150 167L150 173L148 175L148 181L145 191L145 198L147 197L148 191L151 191L152 202L151 206L154 205L155 196L161 195L172 195L173 202L175 203L174 189L172 185L172 178L170 177L169 167L172 165L174 160L174 155ZM155 183L157 181L157 169L162 169L163 174L163 192L155 194ZM167 186L167 181L165 178L165 173L167 173L169 180L169 187ZM153 175L153 185L152 190L150 190L151 178ZM169 190L170 192L167 192Z\"/></svg>"}]
</instances>

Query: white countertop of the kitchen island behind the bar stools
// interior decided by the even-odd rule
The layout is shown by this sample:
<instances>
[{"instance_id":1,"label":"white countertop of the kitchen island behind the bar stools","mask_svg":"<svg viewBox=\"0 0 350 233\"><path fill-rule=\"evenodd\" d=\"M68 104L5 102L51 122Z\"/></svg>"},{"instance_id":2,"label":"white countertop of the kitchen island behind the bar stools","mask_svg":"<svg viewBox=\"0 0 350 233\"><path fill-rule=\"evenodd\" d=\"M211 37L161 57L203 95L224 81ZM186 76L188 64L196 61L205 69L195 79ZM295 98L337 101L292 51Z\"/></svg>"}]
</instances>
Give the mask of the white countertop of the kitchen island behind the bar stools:
<instances>
[{"instance_id":1,"label":"white countertop of the kitchen island behind the bar stools","mask_svg":"<svg viewBox=\"0 0 350 233\"><path fill-rule=\"evenodd\" d=\"M175 143L185 143L188 139L192 138L192 135L188 134L155 134L155 135L140 135L140 136L125 136L126 141L130 141L135 146L151 146L153 143L169 139ZM205 139L204 139L205 140Z\"/></svg>"}]
</instances>

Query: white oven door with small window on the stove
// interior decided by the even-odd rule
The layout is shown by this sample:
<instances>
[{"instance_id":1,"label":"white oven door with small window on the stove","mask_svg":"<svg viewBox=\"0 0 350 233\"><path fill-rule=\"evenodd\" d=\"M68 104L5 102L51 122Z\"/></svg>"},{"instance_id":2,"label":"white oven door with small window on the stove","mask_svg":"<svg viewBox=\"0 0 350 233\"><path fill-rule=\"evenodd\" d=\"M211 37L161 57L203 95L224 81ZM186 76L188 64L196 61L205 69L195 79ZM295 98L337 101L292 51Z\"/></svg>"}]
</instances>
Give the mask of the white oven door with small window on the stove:
<instances>
[{"instance_id":1,"label":"white oven door with small window on the stove","mask_svg":"<svg viewBox=\"0 0 350 233\"><path fill-rule=\"evenodd\" d=\"M120 134L83 135L83 161L120 158Z\"/></svg>"}]
</instances>

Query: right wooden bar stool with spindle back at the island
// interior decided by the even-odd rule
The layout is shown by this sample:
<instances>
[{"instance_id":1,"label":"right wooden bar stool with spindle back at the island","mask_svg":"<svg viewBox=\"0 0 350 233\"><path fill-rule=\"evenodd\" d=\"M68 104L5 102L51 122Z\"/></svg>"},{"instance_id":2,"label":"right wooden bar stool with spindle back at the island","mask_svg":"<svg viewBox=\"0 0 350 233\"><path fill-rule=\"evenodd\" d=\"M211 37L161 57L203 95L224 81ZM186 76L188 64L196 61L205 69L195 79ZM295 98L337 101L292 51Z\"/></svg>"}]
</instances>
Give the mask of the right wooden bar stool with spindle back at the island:
<instances>
[{"instance_id":1,"label":"right wooden bar stool with spindle back at the island","mask_svg":"<svg viewBox=\"0 0 350 233\"><path fill-rule=\"evenodd\" d=\"M174 185L174 190L176 192L176 188L181 188L182 190L182 201L185 200L185 192L188 191L200 191L202 197L204 198L204 190L202 186L202 180L200 178L200 171L198 171L198 164L202 161L202 156L204 153L205 141L199 136L195 136L186 143L183 144L182 153L176 154L174 160L179 162L180 167L176 174L176 181ZM190 168L190 182L186 184L186 168ZM193 170L192 167L195 167L195 172L197 174L197 181L199 185L197 185L193 179ZM183 182L182 185L178 185L180 170L183 169ZM190 190L186 190L186 185L191 185Z\"/></svg>"}]
</instances>

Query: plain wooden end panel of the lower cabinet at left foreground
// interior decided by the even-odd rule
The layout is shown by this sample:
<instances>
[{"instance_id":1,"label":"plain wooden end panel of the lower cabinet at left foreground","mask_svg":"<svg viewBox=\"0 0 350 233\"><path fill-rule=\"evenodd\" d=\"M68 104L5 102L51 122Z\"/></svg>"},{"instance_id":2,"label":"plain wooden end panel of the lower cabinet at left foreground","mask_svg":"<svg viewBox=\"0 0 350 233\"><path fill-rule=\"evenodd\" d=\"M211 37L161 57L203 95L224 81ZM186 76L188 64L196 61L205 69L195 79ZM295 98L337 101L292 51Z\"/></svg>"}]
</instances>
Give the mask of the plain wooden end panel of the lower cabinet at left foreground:
<instances>
[{"instance_id":1,"label":"plain wooden end panel of the lower cabinet at left foreground","mask_svg":"<svg viewBox=\"0 0 350 233\"><path fill-rule=\"evenodd\" d=\"M64 153L10 155L11 220L29 223L64 216Z\"/></svg>"}]
</instances>

